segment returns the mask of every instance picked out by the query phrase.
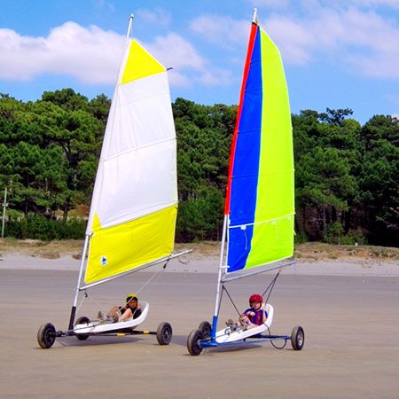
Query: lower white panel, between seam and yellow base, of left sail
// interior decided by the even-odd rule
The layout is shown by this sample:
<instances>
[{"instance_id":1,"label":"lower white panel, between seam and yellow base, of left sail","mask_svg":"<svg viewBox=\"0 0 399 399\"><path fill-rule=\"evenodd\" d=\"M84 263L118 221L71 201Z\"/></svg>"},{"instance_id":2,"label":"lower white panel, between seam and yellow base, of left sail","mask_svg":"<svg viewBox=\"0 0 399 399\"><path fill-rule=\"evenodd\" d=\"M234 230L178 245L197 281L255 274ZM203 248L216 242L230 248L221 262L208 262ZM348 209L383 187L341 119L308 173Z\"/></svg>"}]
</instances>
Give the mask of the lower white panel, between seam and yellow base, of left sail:
<instances>
[{"instance_id":1,"label":"lower white panel, between seam and yellow base, of left sail","mask_svg":"<svg viewBox=\"0 0 399 399\"><path fill-rule=\"evenodd\" d=\"M175 205L176 170L171 168L175 159L176 145L167 141L104 162L96 212L101 227Z\"/></svg>"}]
</instances>

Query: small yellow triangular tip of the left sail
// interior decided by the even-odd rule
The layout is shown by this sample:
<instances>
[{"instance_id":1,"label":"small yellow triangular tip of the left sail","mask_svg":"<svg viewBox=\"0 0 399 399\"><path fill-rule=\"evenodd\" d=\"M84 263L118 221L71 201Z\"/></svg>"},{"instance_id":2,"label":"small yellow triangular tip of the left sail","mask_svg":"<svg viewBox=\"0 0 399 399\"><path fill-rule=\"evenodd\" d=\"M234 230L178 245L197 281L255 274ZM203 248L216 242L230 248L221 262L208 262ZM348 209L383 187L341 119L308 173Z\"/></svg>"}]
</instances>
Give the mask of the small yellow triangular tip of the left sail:
<instances>
[{"instance_id":1,"label":"small yellow triangular tip of the left sail","mask_svg":"<svg viewBox=\"0 0 399 399\"><path fill-rule=\"evenodd\" d=\"M132 40L121 84L136 81L145 76L159 74L164 71L166 71L165 66L154 59L140 44Z\"/></svg>"}]
</instances>

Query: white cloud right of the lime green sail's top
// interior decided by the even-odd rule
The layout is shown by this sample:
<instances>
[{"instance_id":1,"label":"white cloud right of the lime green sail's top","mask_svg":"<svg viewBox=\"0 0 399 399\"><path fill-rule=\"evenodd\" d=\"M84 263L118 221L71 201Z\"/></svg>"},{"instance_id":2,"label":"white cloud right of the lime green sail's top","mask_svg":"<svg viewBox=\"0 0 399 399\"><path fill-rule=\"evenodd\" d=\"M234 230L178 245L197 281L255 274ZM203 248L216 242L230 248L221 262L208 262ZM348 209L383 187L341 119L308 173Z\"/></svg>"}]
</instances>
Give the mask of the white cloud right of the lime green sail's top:
<instances>
[{"instance_id":1,"label":"white cloud right of the lime green sail's top","mask_svg":"<svg viewBox=\"0 0 399 399\"><path fill-rule=\"evenodd\" d=\"M399 77L399 27L376 12L320 9L307 20L273 15L264 27L289 63L315 57L344 63L356 74Z\"/></svg>"}]
</instances>

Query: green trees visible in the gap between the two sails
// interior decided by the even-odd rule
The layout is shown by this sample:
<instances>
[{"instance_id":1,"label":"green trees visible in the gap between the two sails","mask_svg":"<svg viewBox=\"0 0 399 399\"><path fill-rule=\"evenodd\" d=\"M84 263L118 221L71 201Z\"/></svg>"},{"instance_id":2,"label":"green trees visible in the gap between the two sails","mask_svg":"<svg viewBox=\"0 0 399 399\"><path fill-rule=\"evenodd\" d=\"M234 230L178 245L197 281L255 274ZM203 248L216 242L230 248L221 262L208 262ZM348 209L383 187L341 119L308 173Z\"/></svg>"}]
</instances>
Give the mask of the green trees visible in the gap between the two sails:
<instances>
[{"instance_id":1,"label":"green trees visible in the gap between the two sails","mask_svg":"<svg viewBox=\"0 0 399 399\"><path fill-rule=\"evenodd\" d=\"M200 106L177 98L179 212L176 239L220 239L236 106Z\"/></svg>"}]
</instances>

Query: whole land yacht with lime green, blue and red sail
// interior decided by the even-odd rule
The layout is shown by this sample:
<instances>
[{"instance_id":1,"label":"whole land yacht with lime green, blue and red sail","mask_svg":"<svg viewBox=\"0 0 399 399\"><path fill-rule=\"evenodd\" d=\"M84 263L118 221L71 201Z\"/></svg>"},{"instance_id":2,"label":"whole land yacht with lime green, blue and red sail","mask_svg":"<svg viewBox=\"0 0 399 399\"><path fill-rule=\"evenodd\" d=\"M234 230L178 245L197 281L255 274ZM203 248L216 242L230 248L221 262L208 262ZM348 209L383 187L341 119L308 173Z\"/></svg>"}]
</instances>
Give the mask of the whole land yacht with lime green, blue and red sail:
<instances>
[{"instance_id":1,"label":"whole land yacht with lime green, blue and red sail","mask_svg":"<svg viewBox=\"0 0 399 399\"><path fill-rule=\"evenodd\" d=\"M254 10L231 145L215 312L212 324L204 321L189 335L192 356L203 348L251 340L270 341L276 348L278 340L284 346L291 340L294 349L302 348L304 332L299 325L291 335L270 333L274 309L268 299L279 271L262 293L262 297L268 293L264 323L217 330L223 293L231 298L227 283L294 263L293 221L293 135L286 77L278 48L259 26Z\"/></svg>"}]
</instances>

